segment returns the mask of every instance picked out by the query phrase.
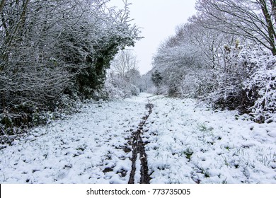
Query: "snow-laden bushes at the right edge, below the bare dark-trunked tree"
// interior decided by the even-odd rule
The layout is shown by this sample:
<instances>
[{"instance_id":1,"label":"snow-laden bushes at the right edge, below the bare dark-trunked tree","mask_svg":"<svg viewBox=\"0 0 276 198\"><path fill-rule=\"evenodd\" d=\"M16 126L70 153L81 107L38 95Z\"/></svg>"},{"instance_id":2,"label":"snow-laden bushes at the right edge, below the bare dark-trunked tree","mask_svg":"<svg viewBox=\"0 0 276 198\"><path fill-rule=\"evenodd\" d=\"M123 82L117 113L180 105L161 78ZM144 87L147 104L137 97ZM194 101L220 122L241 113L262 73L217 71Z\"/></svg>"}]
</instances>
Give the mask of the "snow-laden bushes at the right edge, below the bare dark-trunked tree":
<instances>
[{"instance_id":1,"label":"snow-laden bushes at the right edge, below the bare dark-trunked tree","mask_svg":"<svg viewBox=\"0 0 276 198\"><path fill-rule=\"evenodd\" d=\"M229 66L218 70L219 85L209 95L212 103L248 113L256 122L276 122L275 56L258 45L228 49Z\"/></svg>"}]
</instances>

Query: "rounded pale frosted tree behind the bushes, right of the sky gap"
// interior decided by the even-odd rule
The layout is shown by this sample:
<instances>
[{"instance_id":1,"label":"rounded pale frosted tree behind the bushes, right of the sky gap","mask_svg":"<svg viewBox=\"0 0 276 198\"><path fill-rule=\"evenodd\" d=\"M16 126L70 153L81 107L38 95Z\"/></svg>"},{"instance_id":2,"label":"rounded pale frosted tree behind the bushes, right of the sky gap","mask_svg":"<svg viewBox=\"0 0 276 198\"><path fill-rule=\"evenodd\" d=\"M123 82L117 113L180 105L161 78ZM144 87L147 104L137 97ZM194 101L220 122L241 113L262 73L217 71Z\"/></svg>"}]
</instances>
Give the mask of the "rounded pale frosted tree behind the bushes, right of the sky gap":
<instances>
[{"instance_id":1,"label":"rounded pale frosted tree behind the bushes, right of the sky gap","mask_svg":"<svg viewBox=\"0 0 276 198\"><path fill-rule=\"evenodd\" d=\"M162 76L161 93L181 98L201 97L205 94L198 93L208 86L207 83L201 83L203 79L201 75L204 73L201 70L207 71L209 68L212 71L216 60L212 50L209 50L209 46L214 45L214 40L210 40L206 35L200 35L200 32L202 33L202 28L199 25L181 25L176 29L176 35L169 37L159 47L153 65L154 70ZM204 75L212 75L211 73L205 72Z\"/></svg>"}]
</instances>

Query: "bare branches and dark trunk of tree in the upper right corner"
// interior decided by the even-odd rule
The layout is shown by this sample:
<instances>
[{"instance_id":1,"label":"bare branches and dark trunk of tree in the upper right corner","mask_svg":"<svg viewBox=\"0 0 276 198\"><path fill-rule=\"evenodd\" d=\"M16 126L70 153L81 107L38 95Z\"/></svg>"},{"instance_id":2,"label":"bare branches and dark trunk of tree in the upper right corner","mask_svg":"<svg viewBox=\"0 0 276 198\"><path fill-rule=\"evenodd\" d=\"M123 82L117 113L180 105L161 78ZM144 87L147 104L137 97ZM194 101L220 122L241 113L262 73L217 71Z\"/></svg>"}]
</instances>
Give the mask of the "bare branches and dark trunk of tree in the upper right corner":
<instances>
[{"instance_id":1,"label":"bare branches and dark trunk of tree in the upper right corner","mask_svg":"<svg viewBox=\"0 0 276 198\"><path fill-rule=\"evenodd\" d=\"M276 55L274 0L197 0L190 21L205 28L246 37Z\"/></svg>"}]
</instances>

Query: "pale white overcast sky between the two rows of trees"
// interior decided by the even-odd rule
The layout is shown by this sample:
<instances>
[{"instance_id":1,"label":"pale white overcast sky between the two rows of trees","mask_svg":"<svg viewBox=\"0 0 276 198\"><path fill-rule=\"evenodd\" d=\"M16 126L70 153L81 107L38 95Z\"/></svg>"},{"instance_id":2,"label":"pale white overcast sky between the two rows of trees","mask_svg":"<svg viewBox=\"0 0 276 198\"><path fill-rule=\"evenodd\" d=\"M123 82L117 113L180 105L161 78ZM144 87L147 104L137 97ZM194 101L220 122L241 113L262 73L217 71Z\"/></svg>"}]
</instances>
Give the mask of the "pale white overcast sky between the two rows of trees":
<instances>
[{"instance_id":1,"label":"pale white overcast sky between the two rows of trees","mask_svg":"<svg viewBox=\"0 0 276 198\"><path fill-rule=\"evenodd\" d=\"M146 74L151 59L160 43L174 35L176 26L186 23L195 14L195 0L128 0L130 18L141 27L141 36L134 49L141 74ZM122 0L111 0L110 4L122 8Z\"/></svg>"}]
</instances>

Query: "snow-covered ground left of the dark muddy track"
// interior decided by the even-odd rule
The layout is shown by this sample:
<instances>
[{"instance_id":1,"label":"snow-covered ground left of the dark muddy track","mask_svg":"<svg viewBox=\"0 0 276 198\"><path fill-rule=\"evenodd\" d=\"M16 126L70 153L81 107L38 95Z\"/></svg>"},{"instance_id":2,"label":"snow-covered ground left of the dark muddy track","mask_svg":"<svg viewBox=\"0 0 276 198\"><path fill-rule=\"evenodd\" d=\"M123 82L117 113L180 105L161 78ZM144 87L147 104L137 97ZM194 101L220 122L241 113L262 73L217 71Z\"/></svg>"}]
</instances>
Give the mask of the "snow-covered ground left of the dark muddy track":
<instances>
[{"instance_id":1,"label":"snow-covered ground left of the dark muddy track","mask_svg":"<svg viewBox=\"0 0 276 198\"><path fill-rule=\"evenodd\" d=\"M0 182L127 183L146 95L92 104L0 151ZM127 142L129 141L129 142ZM138 180L139 181L139 180Z\"/></svg>"}]
</instances>

